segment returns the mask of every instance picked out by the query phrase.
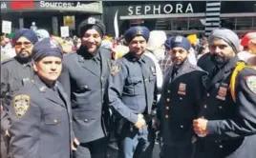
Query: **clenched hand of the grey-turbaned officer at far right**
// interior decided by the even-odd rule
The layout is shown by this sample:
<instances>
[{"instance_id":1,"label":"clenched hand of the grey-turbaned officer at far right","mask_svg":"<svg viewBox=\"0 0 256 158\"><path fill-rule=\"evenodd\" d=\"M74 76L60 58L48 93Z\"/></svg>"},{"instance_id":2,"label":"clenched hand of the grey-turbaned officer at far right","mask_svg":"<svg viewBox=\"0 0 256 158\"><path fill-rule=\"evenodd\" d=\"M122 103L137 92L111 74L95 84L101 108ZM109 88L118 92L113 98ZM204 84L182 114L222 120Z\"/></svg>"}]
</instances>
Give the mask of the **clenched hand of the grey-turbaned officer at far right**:
<instances>
[{"instance_id":1,"label":"clenched hand of the grey-turbaned officer at far right","mask_svg":"<svg viewBox=\"0 0 256 158\"><path fill-rule=\"evenodd\" d=\"M200 137L206 136L208 133L207 122L208 122L208 120L206 120L204 118L199 118L199 119L193 120L194 131Z\"/></svg>"}]
</instances>

